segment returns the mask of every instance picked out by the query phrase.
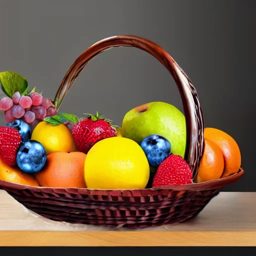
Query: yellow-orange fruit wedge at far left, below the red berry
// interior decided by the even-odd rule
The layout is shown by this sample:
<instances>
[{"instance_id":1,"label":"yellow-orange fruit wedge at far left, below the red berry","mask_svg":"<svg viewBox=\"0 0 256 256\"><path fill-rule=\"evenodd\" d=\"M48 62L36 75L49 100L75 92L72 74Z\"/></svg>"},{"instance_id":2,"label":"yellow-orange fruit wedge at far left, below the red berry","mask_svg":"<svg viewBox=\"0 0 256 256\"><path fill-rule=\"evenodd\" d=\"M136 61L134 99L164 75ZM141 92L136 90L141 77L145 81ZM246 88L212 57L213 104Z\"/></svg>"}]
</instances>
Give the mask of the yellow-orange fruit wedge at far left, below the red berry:
<instances>
[{"instance_id":1,"label":"yellow-orange fruit wedge at far left, below the red berry","mask_svg":"<svg viewBox=\"0 0 256 256\"><path fill-rule=\"evenodd\" d=\"M1 160L0 179L21 185L39 186L32 174L24 173L18 167L9 166Z\"/></svg>"}]
</instances>

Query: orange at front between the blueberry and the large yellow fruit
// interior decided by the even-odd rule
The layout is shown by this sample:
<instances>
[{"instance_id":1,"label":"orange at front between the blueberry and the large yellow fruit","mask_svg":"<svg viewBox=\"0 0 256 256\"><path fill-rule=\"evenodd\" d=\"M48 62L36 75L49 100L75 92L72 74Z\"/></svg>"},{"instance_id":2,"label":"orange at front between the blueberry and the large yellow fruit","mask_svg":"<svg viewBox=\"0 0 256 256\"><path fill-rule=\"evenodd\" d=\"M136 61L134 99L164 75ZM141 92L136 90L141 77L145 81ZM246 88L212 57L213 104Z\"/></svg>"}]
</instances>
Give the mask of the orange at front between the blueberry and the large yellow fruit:
<instances>
[{"instance_id":1,"label":"orange at front between the blueberry and the large yellow fruit","mask_svg":"<svg viewBox=\"0 0 256 256\"><path fill-rule=\"evenodd\" d=\"M47 160L35 177L41 186L48 187L86 187L84 181L83 152L54 152L47 155Z\"/></svg>"}]
</instances>

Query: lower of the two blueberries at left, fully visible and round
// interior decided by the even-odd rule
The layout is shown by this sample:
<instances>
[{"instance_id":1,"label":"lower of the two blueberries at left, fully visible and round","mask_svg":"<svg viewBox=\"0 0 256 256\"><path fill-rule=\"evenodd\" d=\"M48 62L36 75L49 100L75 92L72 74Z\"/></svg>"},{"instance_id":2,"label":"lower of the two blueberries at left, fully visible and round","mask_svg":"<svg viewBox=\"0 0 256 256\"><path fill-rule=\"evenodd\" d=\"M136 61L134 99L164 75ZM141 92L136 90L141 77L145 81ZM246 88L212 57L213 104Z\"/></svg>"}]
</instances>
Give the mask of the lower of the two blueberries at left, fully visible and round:
<instances>
[{"instance_id":1,"label":"lower of the two blueberries at left, fully visible and round","mask_svg":"<svg viewBox=\"0 0 256 256\"><path fill-rule=\"evenodd\" d=\"M18 167L24 172L38 172L46 162L45 149L36 140L25 141L18 149L16 162Z\"/></svg>"}]
</instances>

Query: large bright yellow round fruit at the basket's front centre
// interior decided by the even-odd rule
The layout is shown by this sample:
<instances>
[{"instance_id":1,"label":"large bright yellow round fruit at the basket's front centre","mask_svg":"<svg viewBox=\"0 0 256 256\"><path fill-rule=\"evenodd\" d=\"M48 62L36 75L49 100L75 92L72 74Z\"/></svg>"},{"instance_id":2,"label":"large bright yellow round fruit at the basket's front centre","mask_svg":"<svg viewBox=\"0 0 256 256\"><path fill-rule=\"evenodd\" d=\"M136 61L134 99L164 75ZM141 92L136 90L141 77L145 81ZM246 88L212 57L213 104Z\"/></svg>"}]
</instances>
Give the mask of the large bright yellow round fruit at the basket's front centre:
<instances>
[{"instance_id":1,"label":"large bright yellow round fruit at the basket's front centre","mask_svg":"<svg viewBox=\"0 0 256 256\"><path fill-rule=\"evenodd\" d=\"M149 179L149 164L135 141L124 137L105 138L88 151L84 179L91 189L142 189Z\"/></svg>"}]
</instances>

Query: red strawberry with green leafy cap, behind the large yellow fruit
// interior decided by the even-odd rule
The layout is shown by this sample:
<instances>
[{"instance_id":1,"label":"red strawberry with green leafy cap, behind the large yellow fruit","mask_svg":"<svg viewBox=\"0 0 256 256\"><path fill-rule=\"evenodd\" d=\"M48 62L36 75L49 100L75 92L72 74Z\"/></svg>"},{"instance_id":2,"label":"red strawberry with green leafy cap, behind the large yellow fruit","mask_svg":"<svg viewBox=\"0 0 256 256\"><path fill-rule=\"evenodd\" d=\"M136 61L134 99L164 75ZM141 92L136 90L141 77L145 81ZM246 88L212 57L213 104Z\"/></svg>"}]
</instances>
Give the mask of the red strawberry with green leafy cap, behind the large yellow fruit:
<instances>
[{"instance_id":1,"label":"red strawberry with green leafy cap, behind the large yellow fruit","mask_svg":"<svg viewBox=\"0 0 256 256\"><path fill-rule=\"evenodd\" d=\"M81 152L87 153L99 140L117 135L112 122L99 115L89 114L88 117L78 121L72 127L72 135L76 146Z\"/></svg>"}]
</instances>

